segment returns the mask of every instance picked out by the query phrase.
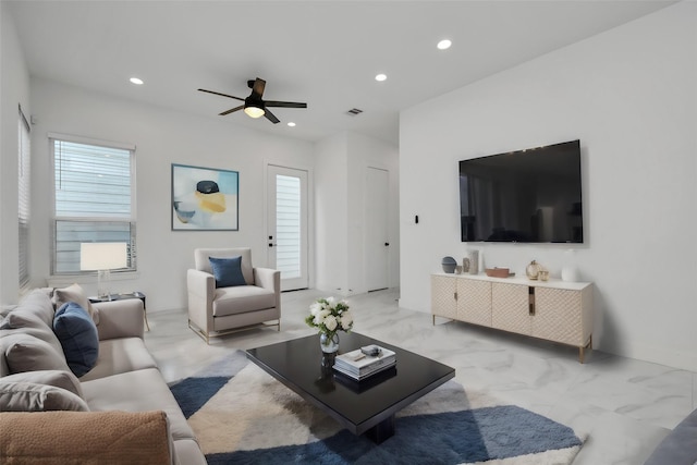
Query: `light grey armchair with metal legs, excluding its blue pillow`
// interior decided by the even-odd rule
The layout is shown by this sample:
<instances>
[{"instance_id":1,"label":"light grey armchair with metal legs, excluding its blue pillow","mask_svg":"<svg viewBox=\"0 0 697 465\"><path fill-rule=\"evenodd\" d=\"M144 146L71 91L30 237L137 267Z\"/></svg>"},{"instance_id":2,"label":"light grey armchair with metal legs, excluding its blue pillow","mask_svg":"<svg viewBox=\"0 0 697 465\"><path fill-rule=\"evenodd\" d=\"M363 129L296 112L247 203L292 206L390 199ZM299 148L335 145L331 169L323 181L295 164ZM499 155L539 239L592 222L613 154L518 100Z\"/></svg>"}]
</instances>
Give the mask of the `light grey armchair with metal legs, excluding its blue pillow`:
<instances>
[{"instance_id":1,"label":"light grey armchair with metal legs, excluding its blue pillow","mask_svg":"<svg viewBox=\"0 0 697 465\"><path fill-rule=\"evenodd\" d=\"M244 284L216 287L210 257L242 257ZM196 268L186 273L188 327L206 343L211 336L261 325L281 330L280 271L254 268L249 248L197 248L194 262Z\"/></svg>"}]
</instances>

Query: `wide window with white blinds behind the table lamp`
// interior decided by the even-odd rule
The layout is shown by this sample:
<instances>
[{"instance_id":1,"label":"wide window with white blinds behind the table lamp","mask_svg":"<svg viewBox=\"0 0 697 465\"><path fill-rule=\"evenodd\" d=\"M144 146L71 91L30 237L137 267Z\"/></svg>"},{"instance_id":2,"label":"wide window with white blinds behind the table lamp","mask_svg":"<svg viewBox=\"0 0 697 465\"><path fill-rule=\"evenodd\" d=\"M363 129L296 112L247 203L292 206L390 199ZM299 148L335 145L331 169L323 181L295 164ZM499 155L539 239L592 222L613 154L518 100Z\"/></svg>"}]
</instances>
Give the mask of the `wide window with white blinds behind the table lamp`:
<instances>
[{"instance_id":1,"label":"wide window with white blinds behind the table lamp","mask_svg":"<svg viewBox=\"0 0 697 465\"><path fill-rule=\"evenodd\" d=\"M124 242L136 270L135 147L49 136L53 163L53 274L80 273L80 244Z\"/></svg>"}]
</instances>

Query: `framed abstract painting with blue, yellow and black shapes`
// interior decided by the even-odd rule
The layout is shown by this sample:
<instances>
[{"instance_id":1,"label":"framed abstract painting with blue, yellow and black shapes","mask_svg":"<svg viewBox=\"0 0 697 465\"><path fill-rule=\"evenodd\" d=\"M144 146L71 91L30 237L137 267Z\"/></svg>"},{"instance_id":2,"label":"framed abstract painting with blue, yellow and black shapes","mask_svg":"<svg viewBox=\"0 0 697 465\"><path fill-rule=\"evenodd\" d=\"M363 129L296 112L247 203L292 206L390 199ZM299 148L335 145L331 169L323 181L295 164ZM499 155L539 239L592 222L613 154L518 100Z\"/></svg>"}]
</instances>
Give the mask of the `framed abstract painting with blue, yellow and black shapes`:
<instances>
[{"instance_id":1,"label":"framed abstract painting with blue, yellow and black shapes","mask_svg":"<svg viewBox=\"0 0 697 465\"><path fill-rule=\"evenodd\" d=\"M240 173L172 163L172 231L239 231Z\"/></svg>"}]
</instances>

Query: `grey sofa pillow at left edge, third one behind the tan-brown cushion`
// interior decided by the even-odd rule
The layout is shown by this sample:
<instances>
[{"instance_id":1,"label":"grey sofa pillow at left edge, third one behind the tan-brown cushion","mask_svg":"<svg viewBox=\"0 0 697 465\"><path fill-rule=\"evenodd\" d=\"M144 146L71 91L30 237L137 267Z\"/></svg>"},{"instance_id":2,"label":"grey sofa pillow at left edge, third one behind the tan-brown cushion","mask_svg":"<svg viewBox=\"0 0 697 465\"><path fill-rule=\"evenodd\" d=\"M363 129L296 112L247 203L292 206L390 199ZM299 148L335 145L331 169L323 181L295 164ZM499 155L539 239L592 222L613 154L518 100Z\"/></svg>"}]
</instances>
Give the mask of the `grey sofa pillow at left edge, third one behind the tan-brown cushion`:
<instances>
[{"instance_id":1,"label":"grey sofa pillow at left edge, third one behind the tan-brown cushion","mask_svg":"<svg viewBox=\"0 0 697 465\"><path fill-rule=\"evenodd\" d=\"M3 335L0 338L0 348L4 352L10 369L9 374L34 370L70 370L62 352L29 334Z\"/></svg>"}]
</instances>

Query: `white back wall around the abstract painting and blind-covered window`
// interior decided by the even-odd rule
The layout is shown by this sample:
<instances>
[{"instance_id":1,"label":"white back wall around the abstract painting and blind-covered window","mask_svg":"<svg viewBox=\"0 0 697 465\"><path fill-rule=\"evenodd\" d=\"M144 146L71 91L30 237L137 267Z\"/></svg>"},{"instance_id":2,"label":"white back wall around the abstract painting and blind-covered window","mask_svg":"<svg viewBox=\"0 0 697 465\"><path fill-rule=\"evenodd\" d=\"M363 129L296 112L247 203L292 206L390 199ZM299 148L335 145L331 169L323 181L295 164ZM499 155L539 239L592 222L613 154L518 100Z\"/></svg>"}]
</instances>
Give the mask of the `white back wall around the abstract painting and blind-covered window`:
<instances>
[{"instance_id":1,"label":"white back wall around the abstract painting and blind-covered window","mask_svg":"<svg viewBox=\"0 0 697 465\"><path fill-rule=\"evenodd\" d=\"M229 119L187 115L45 79L32 79L32 99L35 285L44 285L50 273L49 132L136 145L138 272L130 280L113 280L112 273L112 290L143 291L149 310L186 306L185 276L195 247L250 246L255 265L265 266L265 163L314 166L313 144L243 129ZM171 231L171 163L239 171L240 231ZM85 286L94 292L94 280Z\"/></svg>"}]
</instances>

